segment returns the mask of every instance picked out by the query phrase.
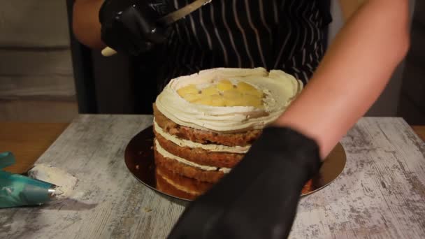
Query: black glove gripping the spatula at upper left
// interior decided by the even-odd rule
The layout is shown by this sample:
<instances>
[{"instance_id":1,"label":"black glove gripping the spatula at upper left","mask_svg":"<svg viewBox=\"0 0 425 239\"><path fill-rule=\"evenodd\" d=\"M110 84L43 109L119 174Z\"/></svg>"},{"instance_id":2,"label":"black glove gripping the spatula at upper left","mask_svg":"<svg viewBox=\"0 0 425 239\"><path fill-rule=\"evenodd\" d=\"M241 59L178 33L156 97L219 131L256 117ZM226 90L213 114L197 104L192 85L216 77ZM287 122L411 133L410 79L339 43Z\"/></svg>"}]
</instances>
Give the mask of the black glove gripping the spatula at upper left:
<instances>
[{"instance_id":1,"label":"black glove gripping the spatula at upper left","mask_svg":"<svg viewBox=\"0 0 425 239\"><path fill-rule=\"evenodd\" d=\"M99 10L101 39L117 52L139 55L166 41L168 29L157 20L168 11L159 0L106 0Z\"/></svg>"}]
</instances>

